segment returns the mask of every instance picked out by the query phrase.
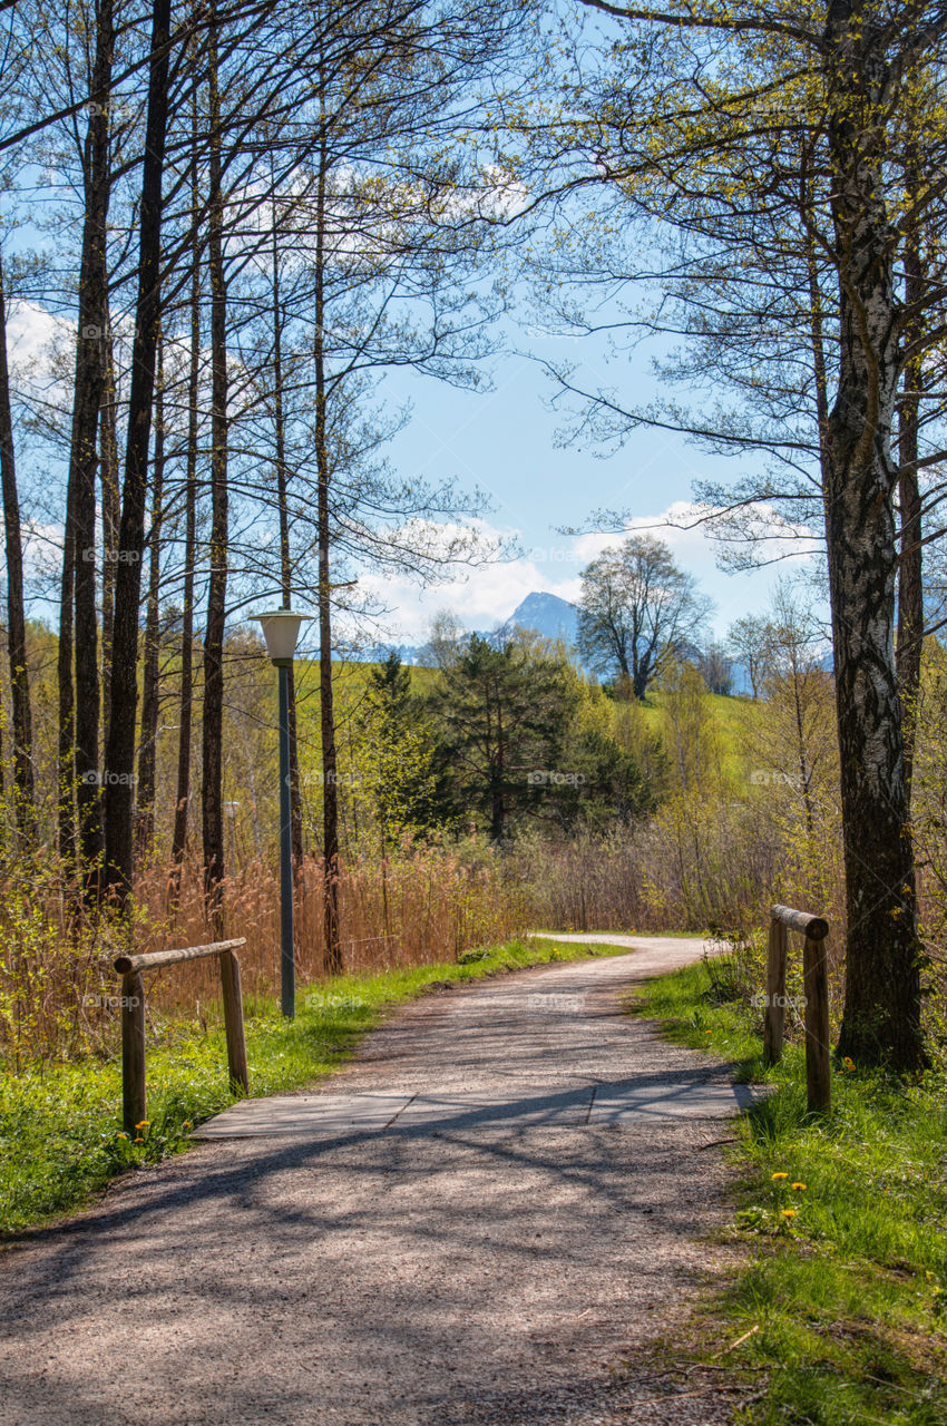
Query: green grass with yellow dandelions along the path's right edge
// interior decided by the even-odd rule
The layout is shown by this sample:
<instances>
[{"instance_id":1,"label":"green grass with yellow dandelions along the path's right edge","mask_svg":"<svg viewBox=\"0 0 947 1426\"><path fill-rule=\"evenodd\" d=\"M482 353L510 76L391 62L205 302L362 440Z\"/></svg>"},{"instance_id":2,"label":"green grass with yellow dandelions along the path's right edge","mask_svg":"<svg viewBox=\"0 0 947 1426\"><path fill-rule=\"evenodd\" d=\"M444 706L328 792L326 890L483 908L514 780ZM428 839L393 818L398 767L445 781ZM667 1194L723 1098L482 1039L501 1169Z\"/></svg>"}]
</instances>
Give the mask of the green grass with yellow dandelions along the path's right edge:
<instances>
[{"instance_id":1,"label":"green grass with yellow dandelions along the path's right edge","mask_svg":"<svg viewBox=\"0 0 947 1426\"><path fill-rule=\"evenodd\" d=\"M709 1306L715 1350L752 1332L726 1359L753 1390L736 1420L941 1426L947 1077L843 1067L830 1117L813 1118L802 1047L764 1070L759 1012L715 1001L696 965L650 983L633 1008L734 1061L740 1078L777 1087L740 1122L733 1151L743 1174L729 1233L753 1246L752 1261Z\"/></svg>"}]
</instances>

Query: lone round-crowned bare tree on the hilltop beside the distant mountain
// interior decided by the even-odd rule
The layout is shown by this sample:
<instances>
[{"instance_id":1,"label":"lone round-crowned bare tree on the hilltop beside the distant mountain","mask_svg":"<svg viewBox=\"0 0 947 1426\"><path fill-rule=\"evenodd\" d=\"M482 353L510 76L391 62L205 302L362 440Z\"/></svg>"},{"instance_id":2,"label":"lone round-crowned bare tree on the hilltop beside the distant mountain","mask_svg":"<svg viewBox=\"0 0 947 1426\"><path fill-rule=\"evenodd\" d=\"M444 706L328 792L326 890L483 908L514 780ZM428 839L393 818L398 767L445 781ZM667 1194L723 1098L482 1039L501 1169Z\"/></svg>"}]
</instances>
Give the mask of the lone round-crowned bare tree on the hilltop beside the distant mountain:
<instances>
[{"instance_id":1,"label":"lone round-crowned bare tree on the hilltop beside the distant mountain","mask_svg":"<svg viewBox=\"0 0 947 1426\"><path fill-rule=\"evenodd\" d=\"M663 540L633 535L582 572L579 652L593 667L630 677L643 699L697 636L707 607Z\"/></svg>"}]
</instances>

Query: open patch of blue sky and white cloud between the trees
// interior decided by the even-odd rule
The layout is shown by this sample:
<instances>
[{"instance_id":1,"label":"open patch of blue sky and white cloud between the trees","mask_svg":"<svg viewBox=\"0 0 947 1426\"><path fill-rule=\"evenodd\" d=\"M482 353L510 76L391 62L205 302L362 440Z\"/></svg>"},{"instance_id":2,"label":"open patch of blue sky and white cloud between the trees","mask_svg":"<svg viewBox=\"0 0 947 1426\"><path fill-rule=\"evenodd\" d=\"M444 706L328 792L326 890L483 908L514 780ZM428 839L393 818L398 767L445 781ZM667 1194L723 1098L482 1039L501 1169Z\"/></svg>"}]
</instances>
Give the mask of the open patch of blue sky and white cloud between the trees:
<instances>
[{"instance_id":1,"label":"open patch of blue sky and white cloud between the trees","mask_svg":"<svg viewBox=\"0 0 947 1426\"><path fill-rule=\"evenodd\" d=\"M523 338L538 355L558 355L555 338ZM572 342L569 359L582 364L578 378L589 385L628 382L647 399L655 379L646 348L638 348L630 362L606 371L598 355ZM509 354L493 368L492 391L458 391L431 378L402 381L396 392L412 402L412 419L396 436L391 461L399 475L429 479L455 476L458 485L479 486L491 498L486 526L516 539L521 555L503 563L471 569L446 585L419 590L409 583L374 580L375 590L391 607L385 620L394 642L422 642L431 617L451 610L471 629L488 630L506 620L532 590L576 600L579 573L620 532L568 536L563 526L588 529L592 512L628 512L632 525L667 542L677 563L692 573L715 603L709 635L726 637L730 623L744 613L764 609L780 575L800 565L780 562L749 573L727 573L719 568L720 546L700 529L672 528L693 520L693 481L707 476L736 476L739 462L713 456L683 436L657 429L639 429L616 453L600 458L595 448L563 448L559 434L563 412L551 409L553 385L539 362L529 355ZM369 580L372 583L372 580Z\"/></svg>"}]
</instances>

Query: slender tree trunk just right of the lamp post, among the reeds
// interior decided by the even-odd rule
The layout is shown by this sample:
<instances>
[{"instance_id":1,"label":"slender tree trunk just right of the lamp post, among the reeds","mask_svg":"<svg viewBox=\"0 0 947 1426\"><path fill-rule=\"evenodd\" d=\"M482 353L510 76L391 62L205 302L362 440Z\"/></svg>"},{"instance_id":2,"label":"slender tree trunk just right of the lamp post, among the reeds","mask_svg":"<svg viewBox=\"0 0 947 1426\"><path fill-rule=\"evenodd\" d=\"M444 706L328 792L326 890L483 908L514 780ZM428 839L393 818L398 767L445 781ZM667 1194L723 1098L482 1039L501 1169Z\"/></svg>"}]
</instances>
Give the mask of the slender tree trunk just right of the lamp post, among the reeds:
<instances>
[{"instance_id":1,"label":"slender tree trunk just right of the lamp post, among the reeds","mask_svg":"<svg viewBox=\"0 0 947 1426\"><path fill-rule=\"evenodd\" d=\"M338 921L338 759L332 703L332 585L329 579L329 452L325 409L325 138L319 145L315 217L315 461L319 617L319 729L322 736L322 934L325 971L342 973Z\"/></svg>"}]
</instances>

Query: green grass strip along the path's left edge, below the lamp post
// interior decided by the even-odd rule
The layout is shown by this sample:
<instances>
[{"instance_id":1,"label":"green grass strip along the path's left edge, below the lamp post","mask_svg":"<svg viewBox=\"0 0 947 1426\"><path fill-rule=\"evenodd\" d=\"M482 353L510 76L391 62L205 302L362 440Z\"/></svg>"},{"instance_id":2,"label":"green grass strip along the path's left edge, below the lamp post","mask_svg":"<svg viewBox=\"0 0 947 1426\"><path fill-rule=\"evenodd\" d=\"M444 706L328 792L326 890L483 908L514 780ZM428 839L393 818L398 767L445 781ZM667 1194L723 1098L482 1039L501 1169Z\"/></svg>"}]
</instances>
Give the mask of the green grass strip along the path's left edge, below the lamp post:
<instances>
[{"instance_id":1,"label":"green grass strip along the path's left edge, below the lamp post","mask_svg":"<svg viewBox=\"0 0 947 1426\"><path fill-rule=\"evenodd\" d=\"M251 1094L278 1094L331 1074L387 1010L432 984L616 954L628 951L555 940L511 941L468 951L459 964L339 977L305 987L292 1021L282 1020L275 1001L248 1001ZM205 1028L165 1025L148 1042L148 1122L135 1138L124 1135L121 1127L118 1058L0 1077L0 1233L74 1209L117 1174L184 1149L194 1125L237 1098L225 1067L220 1015Z\"/></svg>"}]
</instances>

